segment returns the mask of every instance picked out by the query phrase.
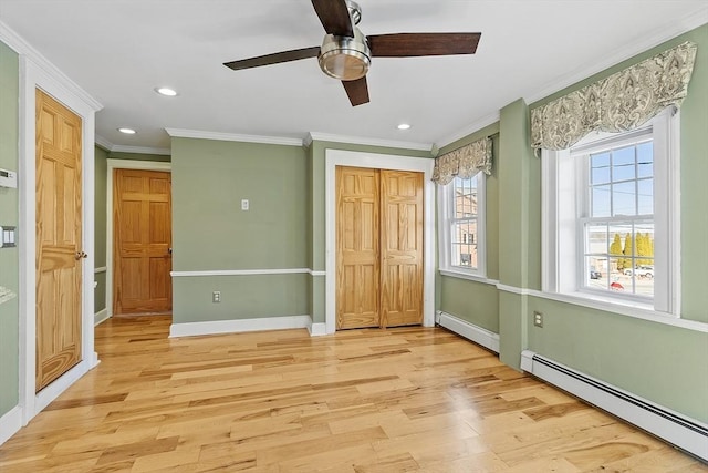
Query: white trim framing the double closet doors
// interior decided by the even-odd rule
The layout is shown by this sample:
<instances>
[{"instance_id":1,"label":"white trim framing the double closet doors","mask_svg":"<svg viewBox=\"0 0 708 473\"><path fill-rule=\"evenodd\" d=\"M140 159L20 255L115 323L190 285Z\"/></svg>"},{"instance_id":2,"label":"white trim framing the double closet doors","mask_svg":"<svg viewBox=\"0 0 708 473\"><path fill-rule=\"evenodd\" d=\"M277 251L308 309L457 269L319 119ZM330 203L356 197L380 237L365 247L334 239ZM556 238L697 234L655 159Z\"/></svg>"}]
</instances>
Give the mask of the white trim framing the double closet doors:
<instances>
[{"instance_id":1,"label":"white trim framing the double closet doors","mask_svg":"<svg viewBox=\"0 0 708 473\"><path fill-rule=\"evenodd\" d=\"M343 150L325 152L325 323L326 332L336 330L336 250L335 250L335 169L336 166L356 166L377 169L414 171L424 174L424 264L423 264L423 325L435 325L435 184L430 181L435 161L427 157L406 157Z\"/></svg>"}]
</instances>

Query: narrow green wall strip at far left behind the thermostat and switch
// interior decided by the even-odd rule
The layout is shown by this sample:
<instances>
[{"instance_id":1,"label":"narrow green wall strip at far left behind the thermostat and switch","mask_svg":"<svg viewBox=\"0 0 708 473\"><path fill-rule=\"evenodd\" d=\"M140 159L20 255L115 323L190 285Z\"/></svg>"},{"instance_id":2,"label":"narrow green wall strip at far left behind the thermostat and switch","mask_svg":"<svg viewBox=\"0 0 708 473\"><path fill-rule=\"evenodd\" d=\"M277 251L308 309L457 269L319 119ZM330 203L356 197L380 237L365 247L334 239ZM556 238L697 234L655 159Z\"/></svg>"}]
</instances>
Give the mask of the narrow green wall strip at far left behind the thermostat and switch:
<instances>
[{"instance_id":1,"label":"narrow green wall strip at far left behind the thermostat and switch","mask_svg":"<svg viewBox=\"0 0 708 473\"><path fill-rule=\"evenodd\" d=\"M0 42L0 167L18 171L19 136L19 58ZM18 189L0 187L0 226L18 226ZM22 245L18 228L15 240ZM0 286L15 295L19 291L18 248L0 248ZM0 304L0 417L19 401L19 332L18 297Z\"/></svg>"}]
</instances>

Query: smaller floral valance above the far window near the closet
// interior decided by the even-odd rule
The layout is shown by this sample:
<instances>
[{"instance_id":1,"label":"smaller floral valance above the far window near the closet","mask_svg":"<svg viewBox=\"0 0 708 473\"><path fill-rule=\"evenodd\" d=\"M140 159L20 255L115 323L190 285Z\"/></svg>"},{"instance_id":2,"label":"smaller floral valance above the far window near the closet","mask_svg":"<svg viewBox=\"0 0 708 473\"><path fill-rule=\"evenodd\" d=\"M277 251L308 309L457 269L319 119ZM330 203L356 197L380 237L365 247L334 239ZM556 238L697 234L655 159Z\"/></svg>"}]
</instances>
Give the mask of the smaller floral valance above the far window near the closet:
<instances>
[{"instance_id":1,"label":"smaller floral valance above the far window near the closet","mask_svg":"<svg viewBox=\"0 0 708 473\"><path fill-rule=\"evenodd\" d=\"M477 140L435 158L433 182L448 184L457 177L468 178L482 171L491 174L491 138Z\"/></svg>"}]
</instances>

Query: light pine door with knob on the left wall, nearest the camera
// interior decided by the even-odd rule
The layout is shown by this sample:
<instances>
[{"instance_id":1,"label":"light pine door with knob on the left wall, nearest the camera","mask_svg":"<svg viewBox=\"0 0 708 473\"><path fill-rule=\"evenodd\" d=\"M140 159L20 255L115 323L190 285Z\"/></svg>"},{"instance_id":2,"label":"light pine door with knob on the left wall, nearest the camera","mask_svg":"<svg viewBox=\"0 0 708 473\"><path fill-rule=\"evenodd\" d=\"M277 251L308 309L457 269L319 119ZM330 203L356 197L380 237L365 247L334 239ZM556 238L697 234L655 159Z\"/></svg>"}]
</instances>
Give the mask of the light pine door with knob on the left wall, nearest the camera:
<instances>
[{"instance_id":1,"label":"light pine door with knob on the left wall, nearest the camera","mask_svg":"<svg viewBox=\"0 0 708 473\"><path fill-rule=\"evenodd\" d=\"M37 90L37 360L39 392L81 361L81 117Z\"/></svg>"}]
</instances>

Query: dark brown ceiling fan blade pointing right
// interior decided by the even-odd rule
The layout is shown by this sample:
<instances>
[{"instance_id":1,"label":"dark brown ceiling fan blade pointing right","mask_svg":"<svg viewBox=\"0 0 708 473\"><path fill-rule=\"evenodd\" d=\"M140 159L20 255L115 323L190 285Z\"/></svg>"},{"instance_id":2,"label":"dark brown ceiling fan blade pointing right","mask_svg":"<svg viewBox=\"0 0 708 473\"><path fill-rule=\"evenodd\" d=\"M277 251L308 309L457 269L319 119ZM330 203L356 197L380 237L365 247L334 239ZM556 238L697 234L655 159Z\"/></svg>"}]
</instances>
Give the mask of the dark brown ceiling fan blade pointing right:
<instances>
[{"instance_id":1,"label":"dark brown ceiling fan blade pointing right","mask_svg":"<svg viewBox=\"0 0 708 473\"><path fill-rule=\"evenodd\" d=\"M473 54L482 33L398 33L366 37L376 58Z\"/></svg>"}]
</instances>

